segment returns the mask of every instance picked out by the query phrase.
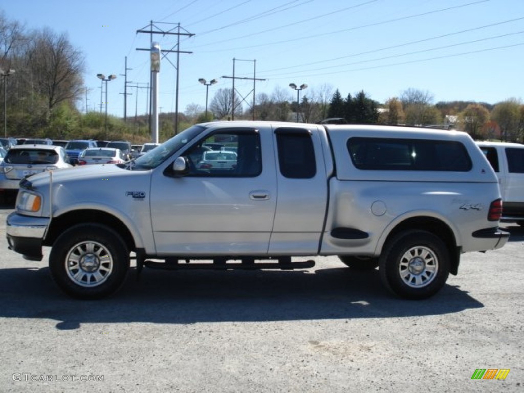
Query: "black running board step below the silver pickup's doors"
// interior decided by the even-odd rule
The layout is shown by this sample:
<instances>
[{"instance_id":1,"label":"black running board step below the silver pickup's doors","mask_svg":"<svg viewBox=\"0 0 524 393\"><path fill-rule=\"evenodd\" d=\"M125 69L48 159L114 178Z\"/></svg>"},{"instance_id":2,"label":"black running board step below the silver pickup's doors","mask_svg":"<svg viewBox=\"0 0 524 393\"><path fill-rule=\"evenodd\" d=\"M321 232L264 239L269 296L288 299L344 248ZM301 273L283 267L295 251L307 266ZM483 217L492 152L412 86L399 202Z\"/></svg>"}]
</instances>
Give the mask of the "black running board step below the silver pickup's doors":
<instances>
[{"instance_id":1,"label":"black running board step below the silver pickup's doors","mask_svg":"<svg viewBox=\"0 0 524 393\"><path fill-rule=\"evenodd\" d=\"M287 258L285 258L287 259ZM238 261L239 259L232 259ZM228 263L224 259L214 259L213 262L201 263L201 262L185 262L180 263L178 260L170 260L167 262L157 262L152 260L144 261L144 266L151 269L160 270L182 270L182 269L210 269L210 270L258 270L258 269L280 269L280 270L293 270L293 269L309 269L315 266L314 260L305 261L275 261L275 262L255 262L253 260L243 260L242 263L230 262Z\"/></svg>"}]
</instances>

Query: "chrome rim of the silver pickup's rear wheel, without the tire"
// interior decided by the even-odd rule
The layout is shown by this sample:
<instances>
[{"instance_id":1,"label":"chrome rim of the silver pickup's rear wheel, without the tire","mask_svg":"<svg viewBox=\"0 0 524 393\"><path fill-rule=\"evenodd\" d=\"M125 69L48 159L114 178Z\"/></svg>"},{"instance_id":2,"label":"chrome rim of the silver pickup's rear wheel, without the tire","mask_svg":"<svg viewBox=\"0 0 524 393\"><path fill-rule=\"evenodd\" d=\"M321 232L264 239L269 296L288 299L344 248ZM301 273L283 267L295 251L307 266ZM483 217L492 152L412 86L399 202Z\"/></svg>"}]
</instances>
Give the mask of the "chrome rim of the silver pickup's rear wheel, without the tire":
<instances>
[{"instance_id":1,"label":"chrome rim of the silver pickup's rear wheel, without the tire","mask_svg":"<svg viewBox=\"0 0 524 393\"><path fill-rule=\"evenodd\" d=\"M398 269L406 285L422 288L435 279L439 271L439 258L428 247L412 247L402 255Z\"/></svg>"}]
</instances>

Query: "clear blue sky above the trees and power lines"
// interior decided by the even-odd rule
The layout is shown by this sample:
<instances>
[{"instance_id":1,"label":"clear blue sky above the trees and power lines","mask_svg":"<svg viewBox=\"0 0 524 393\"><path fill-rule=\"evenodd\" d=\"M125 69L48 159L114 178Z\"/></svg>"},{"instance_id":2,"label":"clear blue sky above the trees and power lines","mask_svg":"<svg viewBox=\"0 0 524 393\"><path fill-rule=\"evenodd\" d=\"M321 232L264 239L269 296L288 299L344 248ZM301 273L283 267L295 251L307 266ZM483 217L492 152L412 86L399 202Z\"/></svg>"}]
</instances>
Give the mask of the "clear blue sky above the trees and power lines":
<instances>
[{"instance_id":1,"label":"clear blue sky above the trees and power lines","mask_svg":"<svg viewBox=\"0 0 524 393\"><path fill-rule=\"evenodd\" d=\"M261 79L235 79L245 108L254 86L257 95L289 100L338 89L384 103L410 88L428 91L433 103L524 99L524 0L18 0L0 10L28 30L67 33L82 51L81 111L100 110L96 74L114 74L107 111L124 116L127 57L127 116L146 112L150 60L137 48L149 49L151 35L137 30L149 31L151 21L154 31L184 34L179 46L176 35L152 38L161 50L184 52L179 112L204 108L206 89L210 104L218 89L233 87L233 75ZM177 53L163 55L158 106L174 112ZM218 83L206 88L200 78ZM290 83L308 87L297 92Z\"/></svg>"}]
</instances>

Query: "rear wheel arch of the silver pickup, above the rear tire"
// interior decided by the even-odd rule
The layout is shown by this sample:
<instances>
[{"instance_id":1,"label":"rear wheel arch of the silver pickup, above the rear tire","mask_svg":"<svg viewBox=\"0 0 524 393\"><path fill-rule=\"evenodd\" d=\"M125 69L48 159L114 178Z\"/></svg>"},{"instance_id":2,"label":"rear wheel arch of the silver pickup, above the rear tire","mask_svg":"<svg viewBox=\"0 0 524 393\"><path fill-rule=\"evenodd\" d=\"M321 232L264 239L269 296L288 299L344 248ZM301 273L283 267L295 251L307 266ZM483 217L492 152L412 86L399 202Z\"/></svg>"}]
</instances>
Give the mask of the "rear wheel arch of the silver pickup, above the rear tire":
<instances>
[{"instance_id":1,"label":"rear wheel arch of the silver pickup, above the rear tire","mask_svg":"<svg viewBox=\"0 0 524 393\"><path fill-rule=\"evenodd\" d=\"M459 269L461 241L459 232L453 225L441 217L431 214L410 215L400 217L391 223L382 234L377 244L377 253L380 255L384 246L397 234L405 231L421 230L432 233L442 239L450 255L450 273L456 275Z\"/></svg>"}]
</instances>

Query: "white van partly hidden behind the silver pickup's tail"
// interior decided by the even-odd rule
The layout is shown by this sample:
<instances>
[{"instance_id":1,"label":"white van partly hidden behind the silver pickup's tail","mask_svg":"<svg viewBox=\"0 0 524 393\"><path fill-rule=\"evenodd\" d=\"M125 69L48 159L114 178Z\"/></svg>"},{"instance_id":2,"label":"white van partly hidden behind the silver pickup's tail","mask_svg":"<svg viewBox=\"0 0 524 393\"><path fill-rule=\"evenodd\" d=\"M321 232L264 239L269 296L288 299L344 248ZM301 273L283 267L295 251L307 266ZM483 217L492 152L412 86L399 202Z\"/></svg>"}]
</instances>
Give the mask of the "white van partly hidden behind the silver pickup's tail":
<instances>
[{"instance_id":1,"label":"white van partly hidden behind the silver pickup's tail","mask_svg":"<svg viewBox=\"0 0 524 393\"><path fill-rule=\"evenodd\" d=\"M493 167L502 195L502 219L524 227L524 145L477 141Z\"/></svg>"}]
</instances>

